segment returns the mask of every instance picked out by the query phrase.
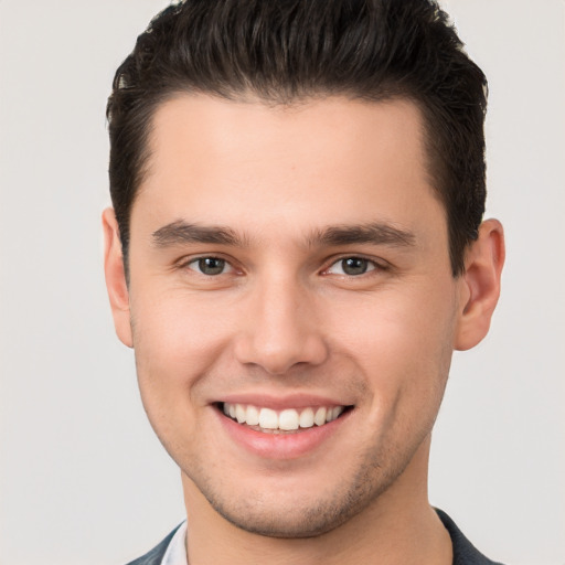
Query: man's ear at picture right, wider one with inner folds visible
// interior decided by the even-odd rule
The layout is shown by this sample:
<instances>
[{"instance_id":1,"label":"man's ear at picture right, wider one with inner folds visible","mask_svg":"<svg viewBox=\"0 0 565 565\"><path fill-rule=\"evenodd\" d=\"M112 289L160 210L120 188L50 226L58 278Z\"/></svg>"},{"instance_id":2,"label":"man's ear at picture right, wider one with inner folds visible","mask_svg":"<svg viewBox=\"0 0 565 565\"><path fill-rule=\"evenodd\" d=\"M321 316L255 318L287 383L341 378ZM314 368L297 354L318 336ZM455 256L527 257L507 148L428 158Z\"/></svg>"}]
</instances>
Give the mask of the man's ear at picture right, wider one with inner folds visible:
<instances>
[{"instance_id":1,"label":"man's ear at picture right, wider one with inner folds visible","mask_svg":"<svg viewBox=\"0 0 565 565\"><path fill-rule=\"evenodd\" d=\"M504 232L498 220L487 220L468 248L460 279L460 311L455 349L471 349L487 335L500 295L504 265Z\"/></svg>"}]
</instances>

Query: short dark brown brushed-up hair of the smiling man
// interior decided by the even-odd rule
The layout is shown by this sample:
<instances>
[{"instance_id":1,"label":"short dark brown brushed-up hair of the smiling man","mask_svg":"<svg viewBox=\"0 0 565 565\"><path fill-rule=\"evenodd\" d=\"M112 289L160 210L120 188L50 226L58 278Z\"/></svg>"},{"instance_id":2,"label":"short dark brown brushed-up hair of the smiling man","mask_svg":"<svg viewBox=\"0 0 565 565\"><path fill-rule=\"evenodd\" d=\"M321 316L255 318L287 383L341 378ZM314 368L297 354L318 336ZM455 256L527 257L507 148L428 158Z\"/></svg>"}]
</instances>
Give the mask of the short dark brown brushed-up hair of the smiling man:
<instances>
[{"instance_id":1,"label":"short dark brown brushed-up hair of the smiling man","mask_svg":"<svg viewBox=\"0 0 565 565\"><path fill-rule=\"evenodd\" d=\"M484 213L487 81L434 1L191 0L157 15L108 100L110 193L127 269L131 206L157 108L179 93L268 105L412 100L444 205L454 276Z\"/></svg>"}]
</instances>

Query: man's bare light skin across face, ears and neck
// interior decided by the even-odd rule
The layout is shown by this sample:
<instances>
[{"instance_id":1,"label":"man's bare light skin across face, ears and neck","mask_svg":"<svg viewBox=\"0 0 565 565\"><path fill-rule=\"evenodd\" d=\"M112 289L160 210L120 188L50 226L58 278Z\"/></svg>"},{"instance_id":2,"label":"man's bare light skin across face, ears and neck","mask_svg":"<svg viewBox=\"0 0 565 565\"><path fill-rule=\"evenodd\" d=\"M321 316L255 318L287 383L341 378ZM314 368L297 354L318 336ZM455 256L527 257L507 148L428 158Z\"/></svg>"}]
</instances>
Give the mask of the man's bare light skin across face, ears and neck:
<instances>
[{"instance_id":1,"label":"man's bare light skin across face, ears and neck","mask_svg":"<svg viewBox=\"0 0 565 565\"><path fill-rule=\"evenodd\" d=\"M451 562L427 500L430 431L454 349L488 331L504 250L484 222L452 277L422 124L409 102L340 97L179 95L156 113L129 287L111 210L106 277L146 412L182 471L190 563ZM194 241L186 225L232 237ZM322 236L369 225L380 237ZM224 270L203 274L202 257ZM348 257L367 270L345 273ZM350 408L305 452L265 455L217 408L249 397Z\"/></svg>"}]
</instances>

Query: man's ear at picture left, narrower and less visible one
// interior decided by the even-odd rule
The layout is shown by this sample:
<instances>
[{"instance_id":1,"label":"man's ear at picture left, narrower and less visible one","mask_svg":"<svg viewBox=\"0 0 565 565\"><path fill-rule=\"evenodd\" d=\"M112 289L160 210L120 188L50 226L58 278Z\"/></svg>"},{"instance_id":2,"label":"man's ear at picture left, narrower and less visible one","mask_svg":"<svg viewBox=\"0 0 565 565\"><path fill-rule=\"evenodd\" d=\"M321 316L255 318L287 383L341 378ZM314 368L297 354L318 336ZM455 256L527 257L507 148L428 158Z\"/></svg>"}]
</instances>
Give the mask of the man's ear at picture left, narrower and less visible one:
<instances>
[{"instance_id":1,"label":"man's ear at picture left, narrower and less visible one","mask_svg":"<svg viewBox=\"0 0 565 565\"><path fill-rule=\"evenodd\" d=\"M124 269L124 254L121 252L118 222L111 207L103 212L102 225L104 230L104 271L111 315L114 316L114 326L119 340L128 348L132 348L129 291Z\"/></svg>"}]
</instances>

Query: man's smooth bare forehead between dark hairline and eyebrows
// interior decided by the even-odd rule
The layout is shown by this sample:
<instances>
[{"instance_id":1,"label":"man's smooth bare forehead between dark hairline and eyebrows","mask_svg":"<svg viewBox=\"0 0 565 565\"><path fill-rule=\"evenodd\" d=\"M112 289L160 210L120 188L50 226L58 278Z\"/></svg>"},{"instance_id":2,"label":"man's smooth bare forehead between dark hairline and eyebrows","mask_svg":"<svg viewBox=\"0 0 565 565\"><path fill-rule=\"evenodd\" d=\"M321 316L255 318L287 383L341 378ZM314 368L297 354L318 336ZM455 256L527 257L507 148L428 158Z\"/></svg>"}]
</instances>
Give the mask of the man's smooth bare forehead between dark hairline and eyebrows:
<instances>
[{"instance_id":1,"label":"man's smooth bare forehead between dark hairline and eyebrows","mask_svg":"<svg viewBox=\"0 0 565 565\"><path fill-rule=\"evenodd\" d=\"M311 231L379 220L413 231L426 211L443 220L423 131L407 100L268 106L179 95L153 116L132 222Z\"/></svg>"}]
</instances>

